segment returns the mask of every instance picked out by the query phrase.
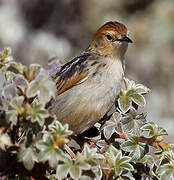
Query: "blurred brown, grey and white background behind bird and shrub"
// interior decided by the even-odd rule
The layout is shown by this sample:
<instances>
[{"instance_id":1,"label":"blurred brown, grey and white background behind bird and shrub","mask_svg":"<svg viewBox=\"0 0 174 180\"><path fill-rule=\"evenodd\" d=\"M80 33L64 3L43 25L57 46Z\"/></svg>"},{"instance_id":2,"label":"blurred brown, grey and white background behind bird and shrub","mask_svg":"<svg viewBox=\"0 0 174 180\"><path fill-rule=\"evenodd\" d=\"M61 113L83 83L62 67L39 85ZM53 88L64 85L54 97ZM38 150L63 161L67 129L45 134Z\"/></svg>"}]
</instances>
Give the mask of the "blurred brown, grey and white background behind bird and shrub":
<instances>
[{"instance_id":1,"label":"blurred brown, grey and white background behind bird and shrub","mask_svg":"<svg viewBox=\"0 0 174 180\"><path fill-rule=\"evenodd\" d=\"M125 24L134 43L126 76L151 88L147 119L174 137L173 0L0 0L0 49L23 64L45 66L84 50L104 22Z\"/></svg>"}]
</instances>

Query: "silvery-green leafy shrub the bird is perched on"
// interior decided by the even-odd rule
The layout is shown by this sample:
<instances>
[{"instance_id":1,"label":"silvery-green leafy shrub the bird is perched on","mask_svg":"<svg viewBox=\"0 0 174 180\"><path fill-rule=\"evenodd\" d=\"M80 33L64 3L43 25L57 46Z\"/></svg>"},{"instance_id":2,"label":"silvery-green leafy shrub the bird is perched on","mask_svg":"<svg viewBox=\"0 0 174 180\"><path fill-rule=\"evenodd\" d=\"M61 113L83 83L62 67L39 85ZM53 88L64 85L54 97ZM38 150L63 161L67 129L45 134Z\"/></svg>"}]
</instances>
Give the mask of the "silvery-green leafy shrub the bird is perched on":
<instances>
[{"instance_id":1,"label":"silvery-green leafy shrub the bird is perched on","mask_svg":"<svg viewBox=\"0 0 174 180\"><path fill-rule=\"evenodd\" d=\"M125 78L115 112L97 123L98 135L71 136L48 110L56 95L49 72L17 63L10 54L9 48L0 54L0 177L174 178L173 144L162 142L167 132L140 113L147 87Z\"/></svg>"}]
</instances>

